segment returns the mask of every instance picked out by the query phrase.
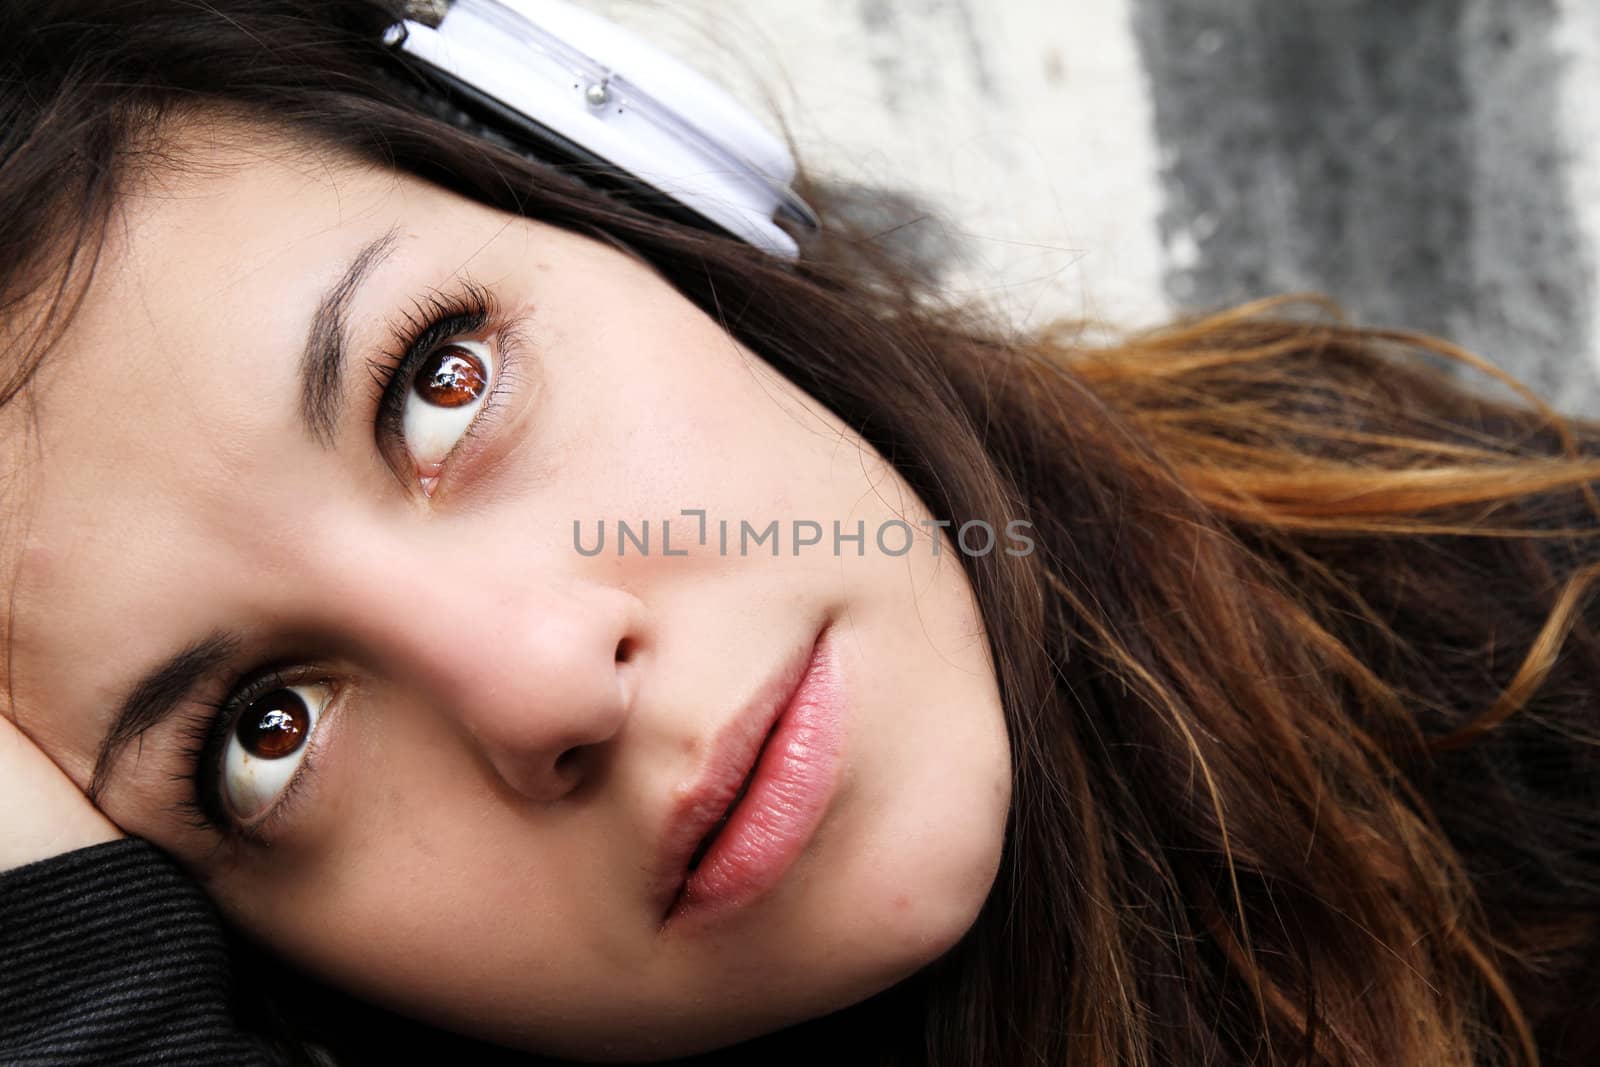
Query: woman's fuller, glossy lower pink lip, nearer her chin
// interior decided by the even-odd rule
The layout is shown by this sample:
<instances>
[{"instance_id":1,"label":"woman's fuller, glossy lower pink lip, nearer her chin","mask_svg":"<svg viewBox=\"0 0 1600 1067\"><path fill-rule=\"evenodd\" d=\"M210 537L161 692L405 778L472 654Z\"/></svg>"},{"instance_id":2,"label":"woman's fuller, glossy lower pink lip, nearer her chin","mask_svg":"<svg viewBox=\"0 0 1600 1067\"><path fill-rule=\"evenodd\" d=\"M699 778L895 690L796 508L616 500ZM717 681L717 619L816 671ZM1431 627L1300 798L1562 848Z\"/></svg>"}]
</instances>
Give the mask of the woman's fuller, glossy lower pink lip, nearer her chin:
<instances>
[{"instance_id":1,"label":"woman's fuller, glossy lower pink lip, nearer her chin","mask_svg":"<svg viewBox=\"0 0 1600 1067\"><path fill-rule=\"evenodd\" d=\"M686 926L752 904L782 881L827 813L838 781L845 686L824 630L750 787L666 917Z\"/></svg>"}]
</instances>

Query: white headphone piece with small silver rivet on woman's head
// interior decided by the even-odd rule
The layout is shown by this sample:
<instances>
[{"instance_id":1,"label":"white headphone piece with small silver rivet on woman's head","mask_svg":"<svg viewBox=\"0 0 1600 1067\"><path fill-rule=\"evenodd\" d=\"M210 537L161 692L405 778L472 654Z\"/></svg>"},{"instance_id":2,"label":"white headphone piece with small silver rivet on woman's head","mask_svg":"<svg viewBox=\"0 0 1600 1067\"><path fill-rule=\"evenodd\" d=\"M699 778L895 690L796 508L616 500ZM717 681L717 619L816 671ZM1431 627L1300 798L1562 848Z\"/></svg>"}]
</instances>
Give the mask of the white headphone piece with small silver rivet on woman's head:
<instances>
[{"instance_id":1,"label":"white headphone piece with small silver rivet on woman's head","mask_svg":"<svg viewBox=\"0 0 1600 1067\"><path fill-rule=\"evenodd\" d=\"M776 219L819 227L789 187L789 149L733 96L563 0L454 0L435 26L408 18L384 42L491 128L667 197L685 221L784 258L798 248Z\"/></svg>"}]
</instances>

